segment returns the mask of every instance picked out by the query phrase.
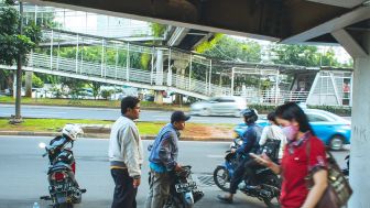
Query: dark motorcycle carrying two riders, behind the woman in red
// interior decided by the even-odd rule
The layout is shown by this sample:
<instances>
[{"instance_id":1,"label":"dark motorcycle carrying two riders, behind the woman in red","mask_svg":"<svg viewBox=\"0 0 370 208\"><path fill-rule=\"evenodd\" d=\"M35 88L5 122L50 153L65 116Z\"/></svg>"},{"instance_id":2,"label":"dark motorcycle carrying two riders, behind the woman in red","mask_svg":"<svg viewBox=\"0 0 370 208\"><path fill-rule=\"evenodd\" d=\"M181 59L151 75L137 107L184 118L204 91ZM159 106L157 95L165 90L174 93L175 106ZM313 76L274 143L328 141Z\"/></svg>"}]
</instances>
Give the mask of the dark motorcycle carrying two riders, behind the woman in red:
<instances>
[{"instance_id":1,"label":"dark motorcycle carrying two riders, behind the woman in red","mask_svg":"<svg viewBox=\"0 0 370 208\"><path fill-rule=\"evenodd\" d=\"M230 149L237 149L242 144L240 139L235 139L230 144ZM225 162L218 165L214 171L215 184L224 191L230 190L230 182L238 163L244 158L243 155L226 151ZM268 167L255 169L255 179L259 183L259 188L250 188L249 178L244 178L238 186L238 189L250 196L263 201L269 208L279 206L279 197L281 190L281 179Z\"/></svg>"}]
</instances>

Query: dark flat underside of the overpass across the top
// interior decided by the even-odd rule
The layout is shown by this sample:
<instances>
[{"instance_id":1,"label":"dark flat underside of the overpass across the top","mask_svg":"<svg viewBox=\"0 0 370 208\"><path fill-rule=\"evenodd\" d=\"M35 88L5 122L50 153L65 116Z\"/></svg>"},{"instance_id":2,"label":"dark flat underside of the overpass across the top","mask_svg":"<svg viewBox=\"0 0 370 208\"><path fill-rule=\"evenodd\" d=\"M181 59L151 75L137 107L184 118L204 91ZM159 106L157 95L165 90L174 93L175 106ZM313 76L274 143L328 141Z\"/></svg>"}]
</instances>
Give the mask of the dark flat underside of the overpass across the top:
<instances>
[{"instance_id":1,"label":"dark flat underside of the overpass across the top","mask_svg":"<svg viewBox=\"0 0 370 208\"><path fill-rule=\"evenodd\" d=\"M269 41L294 36L349 11L297 0L24 1Z\"/></svg>"}]
</instances>

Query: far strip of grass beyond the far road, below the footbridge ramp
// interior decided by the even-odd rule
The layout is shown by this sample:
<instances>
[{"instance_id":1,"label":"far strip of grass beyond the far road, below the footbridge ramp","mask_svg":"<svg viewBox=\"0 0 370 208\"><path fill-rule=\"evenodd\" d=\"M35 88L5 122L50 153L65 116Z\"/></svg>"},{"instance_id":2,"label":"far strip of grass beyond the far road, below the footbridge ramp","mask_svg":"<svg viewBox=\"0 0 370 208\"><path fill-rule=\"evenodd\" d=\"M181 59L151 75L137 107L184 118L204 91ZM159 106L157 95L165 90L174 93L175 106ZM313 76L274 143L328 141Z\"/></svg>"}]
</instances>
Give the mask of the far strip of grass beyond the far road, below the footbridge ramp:
<instances>
[{"instance_id":1,"label":"far strip of grass beyond the far road, below the footbridge ramp","mask_svg":"<svg viewBox=\"0 0 370 208\"><path fill-rule=\"evenodd\" d=\"M13 97L0 97L2 103L15 103ZM22 97L22 105L40 105L40 106L70 106L70 107L97 107L97 108L121 108L120 100L87 100L87 99L52 99L52 98L26 98ZM141 101L143 109L164 109L164 110L184 110L188 111L188 106L177 106L163 103L159 105L151 101Z\"/></svg>"}]
</instances>

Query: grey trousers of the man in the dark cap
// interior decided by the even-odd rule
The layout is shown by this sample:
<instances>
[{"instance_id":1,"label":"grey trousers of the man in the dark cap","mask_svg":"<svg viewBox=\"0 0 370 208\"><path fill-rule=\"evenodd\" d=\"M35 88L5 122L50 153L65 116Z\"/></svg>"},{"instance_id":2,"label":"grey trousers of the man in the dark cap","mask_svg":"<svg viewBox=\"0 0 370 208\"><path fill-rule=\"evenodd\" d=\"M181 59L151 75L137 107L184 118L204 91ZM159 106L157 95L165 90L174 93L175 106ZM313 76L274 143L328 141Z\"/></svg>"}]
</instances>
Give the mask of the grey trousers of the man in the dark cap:
<instances>
[{"instance_id":1,"label":"grey trousers of the man in the dark cap","mask_svg":"<svg viewBox=\"0 0 370 208\"><path fill-rule=\"evenodd\" d=\"M150 190L145 201L145 208L163 208L170 196L172 179L170 173L156 173L153 169L151 171Z\"/></svg>"}]
</instances>

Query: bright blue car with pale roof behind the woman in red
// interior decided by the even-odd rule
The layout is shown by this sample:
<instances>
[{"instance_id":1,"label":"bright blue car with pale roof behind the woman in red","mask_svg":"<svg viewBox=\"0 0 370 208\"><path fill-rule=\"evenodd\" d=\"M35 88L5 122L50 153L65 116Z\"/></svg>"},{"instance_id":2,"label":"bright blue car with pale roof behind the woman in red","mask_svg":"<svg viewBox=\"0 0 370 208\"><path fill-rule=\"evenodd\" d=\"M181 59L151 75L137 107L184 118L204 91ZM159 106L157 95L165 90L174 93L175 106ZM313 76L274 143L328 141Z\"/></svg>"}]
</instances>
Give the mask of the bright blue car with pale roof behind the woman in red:
<instances>
[{"instance_id":1,"label":"bright blue car with pale roof behind the woman in red","mask_svg":"<svg viewBox=\"0 0 370 208\"><path fill-rule=\"evenodd\" d=\"M331 150L341 150L344 144L350 143L350 121L325 110L304 109L304 111L317 138ZM261 127L269 124L266 119L258 120L257 123ZM247 125L244 123L238 124L233 129L235 135L237 138L242 135L246 128Z\"/></svg>"}]
</instances>

